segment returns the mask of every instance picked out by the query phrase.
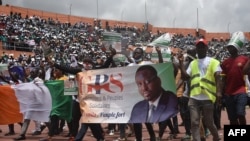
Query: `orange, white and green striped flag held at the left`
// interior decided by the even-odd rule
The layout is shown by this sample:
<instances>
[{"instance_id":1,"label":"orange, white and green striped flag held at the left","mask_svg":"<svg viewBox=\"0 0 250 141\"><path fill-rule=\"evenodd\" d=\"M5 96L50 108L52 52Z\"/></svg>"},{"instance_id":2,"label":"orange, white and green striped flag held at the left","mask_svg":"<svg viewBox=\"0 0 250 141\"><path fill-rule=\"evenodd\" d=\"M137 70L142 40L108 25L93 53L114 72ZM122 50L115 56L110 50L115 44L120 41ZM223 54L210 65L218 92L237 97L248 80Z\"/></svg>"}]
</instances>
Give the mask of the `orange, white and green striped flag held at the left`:
<instances>
[{"instance_id":1,"label":"orange, white and green striped flag held at the left","mask_svg":"<svg viewBox=\"0 0 250 141\"><path fill-rule=\"evenodd\" d=\"M72 97L64 95L64 81L0 86L0 125L23 119L48 122L50 115L72 118Z\"/></svg>"}]
</instances>

